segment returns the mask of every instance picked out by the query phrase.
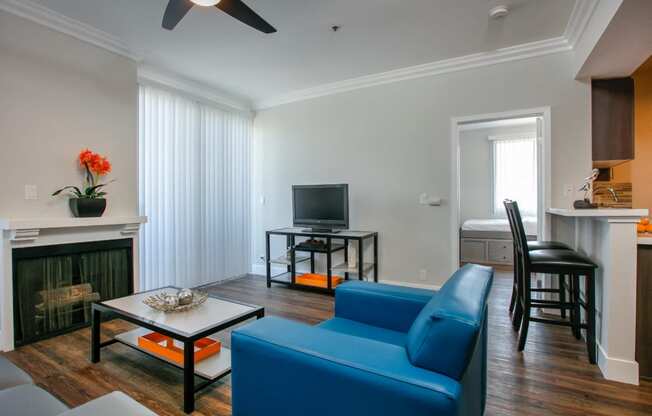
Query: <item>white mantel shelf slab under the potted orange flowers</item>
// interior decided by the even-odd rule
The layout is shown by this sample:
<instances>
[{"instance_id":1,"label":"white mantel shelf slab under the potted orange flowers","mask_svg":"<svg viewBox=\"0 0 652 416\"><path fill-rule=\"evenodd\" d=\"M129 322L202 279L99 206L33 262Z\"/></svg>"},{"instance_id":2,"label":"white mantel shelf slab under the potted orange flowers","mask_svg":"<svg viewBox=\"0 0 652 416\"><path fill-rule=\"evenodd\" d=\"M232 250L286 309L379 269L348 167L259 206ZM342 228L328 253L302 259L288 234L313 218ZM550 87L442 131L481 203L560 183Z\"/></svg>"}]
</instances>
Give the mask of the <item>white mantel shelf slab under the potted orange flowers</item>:
<instances>
[{"instance_id":1,"label":"white mantel shelf slab under the potted orange flowers","mask_svg":"<svg viewBox=\"0 0 652 416\"><path fill-rule=\"evenodd\" d=\"M102 227L109 225L144 224L147 217L98 218L0 218L0 230L26 230L41 228Z\"/></svg>"}]
</instances>

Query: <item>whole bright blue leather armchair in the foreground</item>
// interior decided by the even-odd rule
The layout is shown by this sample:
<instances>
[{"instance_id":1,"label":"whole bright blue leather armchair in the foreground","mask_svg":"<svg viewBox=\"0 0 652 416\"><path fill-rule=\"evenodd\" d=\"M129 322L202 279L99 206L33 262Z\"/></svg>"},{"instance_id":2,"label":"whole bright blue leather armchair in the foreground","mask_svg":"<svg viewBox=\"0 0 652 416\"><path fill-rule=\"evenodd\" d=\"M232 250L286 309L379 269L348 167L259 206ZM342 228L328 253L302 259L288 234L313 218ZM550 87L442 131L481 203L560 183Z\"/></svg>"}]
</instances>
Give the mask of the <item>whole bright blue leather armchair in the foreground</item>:
<instances>
[{"instance_id":1,"label":"whole bright blue leather armchair in the foreground","mask_svg":"<svg viewBox=\"0 0 652 416\"><path fill-rule=\"evenodd\" d=\"M268 317L232 334L235 416L482 415L489 267L437 292L347 282L335 317Z\"/></svg>"}]
</instances>

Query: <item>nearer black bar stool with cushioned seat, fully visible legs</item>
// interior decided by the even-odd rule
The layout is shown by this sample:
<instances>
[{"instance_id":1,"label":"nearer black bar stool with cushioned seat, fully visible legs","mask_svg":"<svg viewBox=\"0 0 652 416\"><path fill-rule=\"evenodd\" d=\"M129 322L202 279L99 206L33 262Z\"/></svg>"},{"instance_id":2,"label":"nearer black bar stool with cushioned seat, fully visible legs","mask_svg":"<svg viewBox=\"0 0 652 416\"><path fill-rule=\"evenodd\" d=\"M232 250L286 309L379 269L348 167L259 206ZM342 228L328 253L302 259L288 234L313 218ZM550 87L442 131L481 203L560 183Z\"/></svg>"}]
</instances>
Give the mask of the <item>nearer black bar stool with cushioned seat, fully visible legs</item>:
<instances>
[{"instance_id":1,"label":"nearer black bar stool with cushioned seat, fully visible legs","mask_svg":"<svg viewBox=\"0 0 652 416\"><path fill-rule=\"evenodd\" d=\"M529 250L525 227L521 220L518 204L514 201L504 202L508 217L515 226L516 249L519 260L519 282L516 305L514 307L514 323L520 322L518 350L523 351L527 341L530 322L547 323L571 327L575 337L579 337L582 329L586 330L586 347L589 362L596 362L595 344L595 269L598 267L591 259L573 250L542 249ZM570 302L560 299L532 299L532 273L546 273L560 276L560 286L565 286L564 277L570 276ZM586 301L580 297L580 276L585 279ZM552 289L555 290L555 289ZM580 308L586 311L586 323L581 322ZM531 316L533 308L550 308L570 310L571 319L557 320Z\"/></svg>"}]
</instances>

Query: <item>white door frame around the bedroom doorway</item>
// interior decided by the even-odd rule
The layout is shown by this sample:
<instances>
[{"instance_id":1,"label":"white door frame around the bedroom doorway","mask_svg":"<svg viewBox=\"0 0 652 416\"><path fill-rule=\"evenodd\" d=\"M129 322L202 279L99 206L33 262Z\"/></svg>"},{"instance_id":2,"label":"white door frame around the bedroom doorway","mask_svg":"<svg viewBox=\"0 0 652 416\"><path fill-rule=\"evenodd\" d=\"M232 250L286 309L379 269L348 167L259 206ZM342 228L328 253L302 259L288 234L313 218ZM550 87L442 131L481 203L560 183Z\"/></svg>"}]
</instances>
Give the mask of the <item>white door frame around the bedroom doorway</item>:
<instances>
[{"instance_id":1,"label":"white door frame around the bedroom doorway","mask_svg":"<svg viewBox=\"0 0 652 416\"><path fill-rule=\"evenodd\" d=\"M502 120L508 118L541 117L543 132L537 132L538 144L538 196L537 196L537 233L545 240L550 236L550 224L546 212L551 204L551 137L552 120L550 107L528 108L504 111L500 113L477 114L451 118L451 270L454 272L460 264L460 125L481 121ZM541 134L542 133L542 134Z\"/></svg>"}]
</instances>

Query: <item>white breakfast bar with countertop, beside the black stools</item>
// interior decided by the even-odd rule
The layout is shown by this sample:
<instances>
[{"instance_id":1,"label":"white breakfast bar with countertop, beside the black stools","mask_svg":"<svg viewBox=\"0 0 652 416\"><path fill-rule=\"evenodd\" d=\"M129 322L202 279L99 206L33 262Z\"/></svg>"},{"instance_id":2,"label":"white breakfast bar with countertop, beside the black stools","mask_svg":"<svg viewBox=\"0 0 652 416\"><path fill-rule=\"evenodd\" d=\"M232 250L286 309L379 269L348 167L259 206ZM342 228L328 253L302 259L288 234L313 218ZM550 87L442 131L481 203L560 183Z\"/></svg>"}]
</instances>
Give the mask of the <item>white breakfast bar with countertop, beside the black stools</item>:
<instances>
[{"instance_id":1,"label":"white breakfast bar with countertop, beside the black stools","mask_svg":"<svg viewBox=\"0 0 652 416\"><path fill-rule=\"evenodd\" d=\"M608 380L639 384L636 361L636 225L647 209L548 210L553 240L589 256L596 273L598 366Z\"/></svg>"}]
</instances>

